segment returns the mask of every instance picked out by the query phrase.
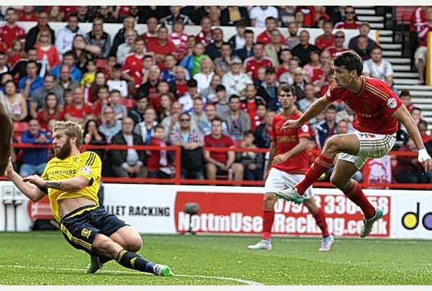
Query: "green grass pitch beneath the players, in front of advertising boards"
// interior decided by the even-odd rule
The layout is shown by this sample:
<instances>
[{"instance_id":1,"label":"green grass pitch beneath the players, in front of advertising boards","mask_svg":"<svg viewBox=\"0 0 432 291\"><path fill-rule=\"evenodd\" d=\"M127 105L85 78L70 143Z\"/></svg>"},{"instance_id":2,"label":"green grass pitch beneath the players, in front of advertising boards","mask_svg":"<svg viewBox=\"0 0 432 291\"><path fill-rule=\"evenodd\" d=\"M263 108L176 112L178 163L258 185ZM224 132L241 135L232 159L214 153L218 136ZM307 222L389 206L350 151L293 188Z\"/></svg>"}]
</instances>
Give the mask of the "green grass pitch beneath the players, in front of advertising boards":
<instances>
[{"instance_id":1,"label":"green grass pitch beneath the players, in front of advertising boards","mask_svg":"<svg viewBox=\"0 0 432 291\"><path fill-rule=\"evenodd\" d=\"M144 235L140 254L168 264L158 277L108 262L84 274L89 256L59 232L0 233L0 285L432 285L431 242L275 237L273 251L250 251L257 236Z\"/></svg>"}]
</instances>

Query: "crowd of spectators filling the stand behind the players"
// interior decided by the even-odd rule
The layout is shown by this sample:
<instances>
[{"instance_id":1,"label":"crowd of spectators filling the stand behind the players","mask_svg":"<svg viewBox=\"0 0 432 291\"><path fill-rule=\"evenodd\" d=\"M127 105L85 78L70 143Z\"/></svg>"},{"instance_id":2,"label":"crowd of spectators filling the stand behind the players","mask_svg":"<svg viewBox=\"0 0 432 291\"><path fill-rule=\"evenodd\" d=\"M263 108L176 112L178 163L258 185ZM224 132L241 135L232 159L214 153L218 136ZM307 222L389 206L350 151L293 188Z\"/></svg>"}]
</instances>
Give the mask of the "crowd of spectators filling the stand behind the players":
<instances>
[{"instance_id":1,"label":"crowd of spectators filling the stand behind the players","mask_svg":"<svg viewBox=\"0 0 432 291\"><path fill-rule=\"evenodd\" d=\"M82 126L85 144L162 147L96 150L103 176L169 178L174 159L163 147L173 145L182 148L182 178L262 180L266 155L204 147L268 148L273 117L281 111L278 88L294 86L296 108L304 112L328 90L331 60L345 50L361 56L364 76L384 80L398 94L432 152L421 109L410 92L394 86L391 63L352 6L2 7L0 98L15 128L27 124L15 141L50 143L55 120L72 120ZM424 31L432 31L432 8L422 7L420 46ZM37 24L26 31L17 21ZM52 22L66 23L54 31ZM92 23L91 31L82 31L82 22ZM110 35L105 23L123 27ZM147 31L138 34L136 24L147 24ZM201 31L188 35L187 25L201 25ZM226 39L228 26L236 34ZM255 35L250 27L262 30ZM312 27L322 29L314 41L303 29ZM347 48L345 29L359 31ZM419 70L423 51L416 54ZM333 134L352 132L354 117L340 103L310 120L309 148L320 150ZM415 150L403 127L397 138L394 150ZM43 148L14 153L21 176L41 173L52 157ZM416 159L394 157L392 163L399 183L432 181ZM354 178L361 181L363 174Z\"/></svg>"}]
</instances>

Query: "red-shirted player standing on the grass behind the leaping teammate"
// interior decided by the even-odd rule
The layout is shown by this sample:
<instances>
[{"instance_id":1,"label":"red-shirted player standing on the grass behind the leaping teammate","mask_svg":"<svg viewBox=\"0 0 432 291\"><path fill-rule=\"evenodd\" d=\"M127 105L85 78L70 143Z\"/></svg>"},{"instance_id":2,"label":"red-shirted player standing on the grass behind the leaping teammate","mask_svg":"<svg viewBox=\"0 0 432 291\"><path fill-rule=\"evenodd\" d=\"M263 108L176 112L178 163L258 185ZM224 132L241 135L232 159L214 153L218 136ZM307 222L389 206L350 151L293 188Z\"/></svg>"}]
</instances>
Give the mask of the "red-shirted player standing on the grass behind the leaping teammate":
<instances>
[{"instance_id":1,"label":"red-shirted player standing on the grass behind the leaping teammate","mask_svg":"<svg viewBox=\"0 0 432 291\"><path fill-rule=\"evenodd\" d=\"M263 209L263 233L258 243L248 246L249 250L272 250L271 228L275 220L274 206L278 199L273 192L282 190L289 185L298 183L305 176L308 169L308 155L305 149L310 139L310 127L303 124L301 127L285 129L282 125L286 120L297 120L302 115L296 109L296 88L291 85L282 85L279 90L278 100L282 105L282 113L273 118L272 137L270 145L270 157L267 169L264 173L264 209ZM329 251L334 244L334 238L329 234L324 211L319 208L313 198L312 187L305 191L304 204L312 213L319 229L322 231L322 243L320 251Z\"/></svg>"}]
</instances>

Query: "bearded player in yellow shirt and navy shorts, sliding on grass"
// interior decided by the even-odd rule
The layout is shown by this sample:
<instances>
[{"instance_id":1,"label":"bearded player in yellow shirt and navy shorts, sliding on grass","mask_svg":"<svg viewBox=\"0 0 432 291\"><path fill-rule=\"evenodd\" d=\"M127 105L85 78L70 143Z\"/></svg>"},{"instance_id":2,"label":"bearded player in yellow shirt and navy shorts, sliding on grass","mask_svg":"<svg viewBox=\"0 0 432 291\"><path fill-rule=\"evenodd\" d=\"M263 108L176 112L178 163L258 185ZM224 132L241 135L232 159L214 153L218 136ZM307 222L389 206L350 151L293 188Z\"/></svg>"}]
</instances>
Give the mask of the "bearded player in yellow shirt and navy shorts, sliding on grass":
<instances>
[{"instance_id":1,"label":"bearded player in yellow shirt and navy shorts, sliding on grass","mask_svg":"<svg viewBox=\"0 0 432 291\"><path fill-rule=\"evenodd\" d=\"M52 213L66 241L91 256L87 273L94 273L105 262L116 260L129 269L173 276L168 266L138 255L136 252L143 247L141 235L99 206L101 159L95 152L80 152L80 125L57 121L52 133L55 157L48 162L42 176L22 178L13 170L10 159L5 176L31 201L37 202L48 194Z\"/></svg>"}]
</instances>

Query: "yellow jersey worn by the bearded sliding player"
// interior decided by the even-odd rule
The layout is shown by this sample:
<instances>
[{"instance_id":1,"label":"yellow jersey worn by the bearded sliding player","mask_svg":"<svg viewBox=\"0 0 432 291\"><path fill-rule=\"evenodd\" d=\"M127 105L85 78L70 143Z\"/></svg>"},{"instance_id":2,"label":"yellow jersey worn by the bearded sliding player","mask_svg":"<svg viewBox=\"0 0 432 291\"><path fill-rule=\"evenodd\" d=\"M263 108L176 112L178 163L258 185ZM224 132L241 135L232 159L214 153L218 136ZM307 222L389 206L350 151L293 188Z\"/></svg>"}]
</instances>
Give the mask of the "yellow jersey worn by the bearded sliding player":
<instances>
[{"instance_id":1,"label":"yellow jersey worn by the bearded sliding player","mask_svg":"<svg viewBox=\"0 0 432 291\"><path fill-rule=\"evenodd\" d=\"M62 199L85 197L95 201L99 206L97 192L101 181L101 169L101 158L95 152L90 151L66 159L54 157L48 162L41 176L43 180L63 180L80 175L90 181L87 187L76 192L48 188L52 214L57 222L60 222L59 201Z\"/></svg>"}]
</instances>

